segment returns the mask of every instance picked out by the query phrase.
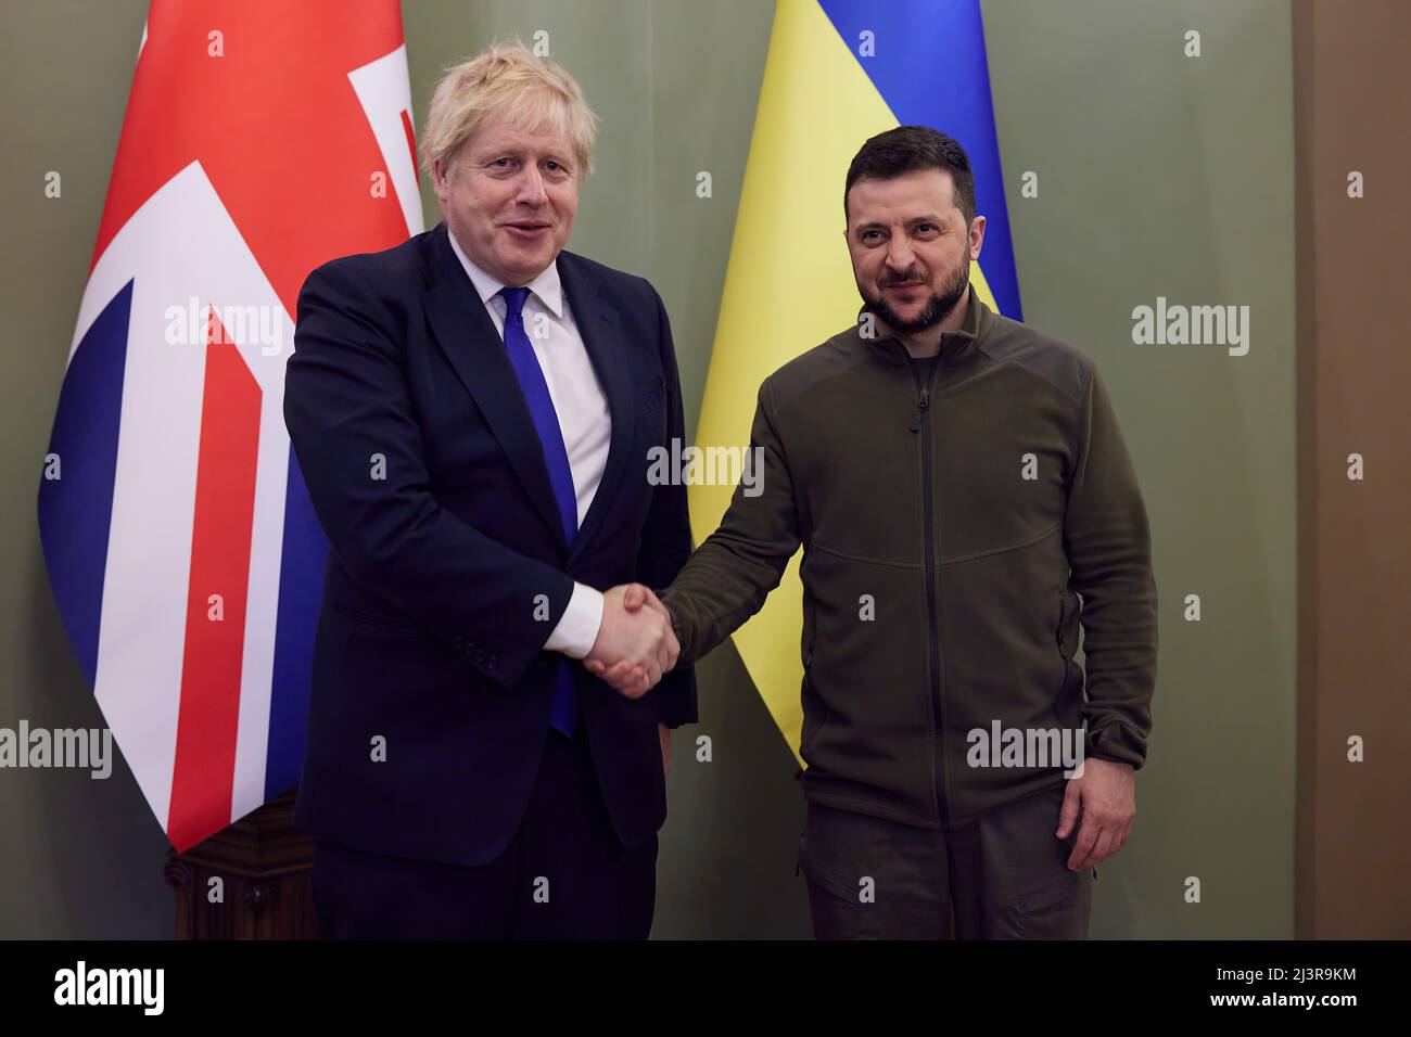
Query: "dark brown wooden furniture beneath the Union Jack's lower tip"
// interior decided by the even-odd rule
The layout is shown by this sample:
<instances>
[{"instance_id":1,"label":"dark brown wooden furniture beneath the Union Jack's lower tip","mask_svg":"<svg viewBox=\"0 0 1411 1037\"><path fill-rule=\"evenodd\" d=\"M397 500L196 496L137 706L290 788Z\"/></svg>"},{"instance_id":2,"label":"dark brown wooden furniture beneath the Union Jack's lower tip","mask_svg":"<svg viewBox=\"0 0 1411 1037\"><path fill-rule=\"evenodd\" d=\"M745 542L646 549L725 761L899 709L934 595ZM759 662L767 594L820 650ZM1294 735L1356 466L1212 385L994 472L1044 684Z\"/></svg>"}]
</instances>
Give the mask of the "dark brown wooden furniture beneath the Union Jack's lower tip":
<instances>
[{"instance_id":1,"label":"dark brown wooden furniture beneath the Union Jack's lower tip","mask_svg":"<svg viewBox=\"0 0 1411 1037\"><path fill-rule=\"evenodd\" d=\"M291 790L185 854L166 851L176 940L317 940L312 875Z\"/></svg>"}]
</instances>

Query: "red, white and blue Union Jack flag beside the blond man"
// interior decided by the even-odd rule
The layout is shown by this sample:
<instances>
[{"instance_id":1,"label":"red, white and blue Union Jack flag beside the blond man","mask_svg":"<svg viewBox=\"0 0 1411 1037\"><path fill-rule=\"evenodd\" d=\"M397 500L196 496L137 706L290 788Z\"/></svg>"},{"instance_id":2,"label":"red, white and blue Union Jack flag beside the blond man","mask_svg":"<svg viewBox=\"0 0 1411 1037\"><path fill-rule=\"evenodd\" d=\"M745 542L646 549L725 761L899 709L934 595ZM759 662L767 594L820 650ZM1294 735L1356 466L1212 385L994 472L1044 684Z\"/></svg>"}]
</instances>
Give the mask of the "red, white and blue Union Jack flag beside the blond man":
<instances>
[{"instance_id":1,"label":"red, white and blue Union Jack flag beside the blond man","mask_svg":"<svg viewBox=\"0 0 1411 1037\"><path fill-rule=\"evenodd\" d=\"M420 231L398 0L152 0L40 532L178 851L303 760L327 542L282 416L299 288Z\"/></svg>"}]
</instances>

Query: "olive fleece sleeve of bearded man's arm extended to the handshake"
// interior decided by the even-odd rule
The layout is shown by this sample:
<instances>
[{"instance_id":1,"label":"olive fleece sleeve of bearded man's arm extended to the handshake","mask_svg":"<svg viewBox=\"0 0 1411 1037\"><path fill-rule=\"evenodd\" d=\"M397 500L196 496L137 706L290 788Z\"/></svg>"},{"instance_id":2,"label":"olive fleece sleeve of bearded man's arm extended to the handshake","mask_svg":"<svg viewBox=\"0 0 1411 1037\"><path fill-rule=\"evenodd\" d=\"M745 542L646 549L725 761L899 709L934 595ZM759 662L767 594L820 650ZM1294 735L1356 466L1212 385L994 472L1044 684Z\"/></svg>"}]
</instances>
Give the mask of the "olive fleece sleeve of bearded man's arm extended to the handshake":
<instances>
[{"instance_id":1,"label":"olive fleece sleeve of bearded man's arm extended to the handshake","mask_svg":"<svg viewBox=\"0 0 1411 1037\"><path fill-rule=\"evenodd\" d=\"M770 384L759 387L749 436L759 494L735 487L720 528L696 549L662 601L672 611L682 659L694 662L761 610L799 550L793 480L770 418Z\"/></svg>"}]
</instances>

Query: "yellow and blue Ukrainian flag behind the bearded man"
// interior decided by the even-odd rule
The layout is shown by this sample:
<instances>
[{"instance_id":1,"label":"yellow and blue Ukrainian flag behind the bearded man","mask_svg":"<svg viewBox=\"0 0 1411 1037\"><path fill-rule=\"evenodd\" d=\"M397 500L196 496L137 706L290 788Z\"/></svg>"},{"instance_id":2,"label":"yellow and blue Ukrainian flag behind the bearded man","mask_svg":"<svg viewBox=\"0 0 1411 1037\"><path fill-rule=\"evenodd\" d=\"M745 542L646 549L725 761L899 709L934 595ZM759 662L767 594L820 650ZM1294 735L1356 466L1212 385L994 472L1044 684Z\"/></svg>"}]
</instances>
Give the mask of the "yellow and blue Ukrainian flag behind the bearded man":
<instances>
[{"instance_id":1,"label":"yellow and blue Ukrainian flag behind the bearded man","mask_svg":"<svg viewBox=\"0 0 1411 1037\"><path fill-rule=\"evenodd\" d=\"M759 384L856 320L844 178L868 137L912 124L954 137L969 155L976 213L986 217L971 282L992 309L1023 319L979 0L779 0L697 443L748 444ZM690 488L697 543L720 525L732 492ZM759 615L735 632L796 758L801 626L796 556Z\"/></svg>"}]
</instances>

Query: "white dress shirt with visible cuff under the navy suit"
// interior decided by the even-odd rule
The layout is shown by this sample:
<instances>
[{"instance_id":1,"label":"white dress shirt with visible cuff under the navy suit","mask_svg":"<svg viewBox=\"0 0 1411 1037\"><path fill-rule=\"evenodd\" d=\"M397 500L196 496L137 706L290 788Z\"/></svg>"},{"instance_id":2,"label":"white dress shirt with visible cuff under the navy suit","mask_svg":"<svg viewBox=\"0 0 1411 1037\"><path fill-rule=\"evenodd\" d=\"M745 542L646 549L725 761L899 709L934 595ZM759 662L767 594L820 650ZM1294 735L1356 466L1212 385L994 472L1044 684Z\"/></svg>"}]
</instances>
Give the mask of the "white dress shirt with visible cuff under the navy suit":
<instances>
[{"instance_id":1,"label":"white dress shirt with visible cuff under the navy suit","mask_svg":"<svg viewBox=\"0 0 1411 1037\"><path fill-rule=\"evenodd\" d=\"M447 233L447 237L456 258L480 293L490 319L495 322L495 330L504 339L508 309L505 298L499 295L504 282L471 262L454 234ZM573 473L579 526L581 526L602 481L602 468L608 463L612 415L598 384L598 375L593 370L593 361L588 360L588 351L583 346L583 336L579 334L579 326L573 320L569 299L563 295L557 261L550 262L526 288L529 298L523 306L525 334L529 336L539 370L543 371L543 380L549 385L553 411L559 416L559 429ZM569 607L545 642L545 649L581 659L593 650L601 624L602 593L574 581Z\"/></svg>"}]
</instances>

